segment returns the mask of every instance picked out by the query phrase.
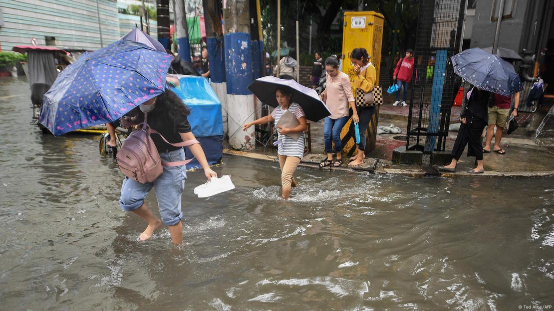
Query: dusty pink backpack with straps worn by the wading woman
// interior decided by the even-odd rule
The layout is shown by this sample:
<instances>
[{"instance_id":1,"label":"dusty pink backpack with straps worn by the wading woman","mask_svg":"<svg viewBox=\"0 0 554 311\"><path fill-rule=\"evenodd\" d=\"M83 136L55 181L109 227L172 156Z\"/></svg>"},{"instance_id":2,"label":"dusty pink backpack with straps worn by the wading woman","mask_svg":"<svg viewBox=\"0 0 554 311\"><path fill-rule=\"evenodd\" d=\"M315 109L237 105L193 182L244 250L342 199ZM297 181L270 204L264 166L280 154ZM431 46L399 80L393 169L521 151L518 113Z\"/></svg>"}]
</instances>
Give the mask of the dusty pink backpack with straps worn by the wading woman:
<instances>
[{"instance_id":1,"label":"dusty pink backpack with straps worn by the wading woman","mask_svg":"<svg viewBox=\"0 0 554 311\"><path fill-rule=\"evenodd\" d=\"M154 141L150 137L150 133L160 133L148 126L146 123L147 117L148 113L145 113L144 122L139 125L140 129L132 132L125 139L116 156L116 163L121 172L141 184L156 180L163 172L162 165L175 167L192 161L192 159L189 159L177 162L162 162L158 149L156 149ZM191 139L172 144L161 134L160 136L166 143L175 147L186 147L199 143L196 139Z\"/></svg>"}]
</instances>

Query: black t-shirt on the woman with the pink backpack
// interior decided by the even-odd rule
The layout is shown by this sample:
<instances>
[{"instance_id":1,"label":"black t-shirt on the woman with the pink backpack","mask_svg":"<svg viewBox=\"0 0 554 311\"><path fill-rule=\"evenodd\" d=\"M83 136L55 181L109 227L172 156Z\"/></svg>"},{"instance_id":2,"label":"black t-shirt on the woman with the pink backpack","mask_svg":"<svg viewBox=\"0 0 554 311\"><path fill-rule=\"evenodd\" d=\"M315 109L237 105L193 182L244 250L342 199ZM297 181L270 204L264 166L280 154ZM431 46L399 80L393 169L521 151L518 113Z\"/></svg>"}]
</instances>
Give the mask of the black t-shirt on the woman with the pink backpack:
<instances>
[{"instance_id":1,"label":"black t-shirt on the woman with the pink backpack","mask_svg":"<svg viewBox=\"0 0 554 311\"><path fill-rule=\"evenodd\" d=\"M140 112L139 118L144 119L144 113ZM163 114L156 112L154 109L151 112L148 112L148 125L160 132L170 143L180 143L183 141L179 133L188 133L191 132L191 125L188 123L187 116L176 117L175 122L171 119L168 119ZM163 139L158 134L151 134L152 141L156 145L158 152L165 152L177 150L182 147L171 146L170 144L163 141Z\"/></svg>"}]
</instances>

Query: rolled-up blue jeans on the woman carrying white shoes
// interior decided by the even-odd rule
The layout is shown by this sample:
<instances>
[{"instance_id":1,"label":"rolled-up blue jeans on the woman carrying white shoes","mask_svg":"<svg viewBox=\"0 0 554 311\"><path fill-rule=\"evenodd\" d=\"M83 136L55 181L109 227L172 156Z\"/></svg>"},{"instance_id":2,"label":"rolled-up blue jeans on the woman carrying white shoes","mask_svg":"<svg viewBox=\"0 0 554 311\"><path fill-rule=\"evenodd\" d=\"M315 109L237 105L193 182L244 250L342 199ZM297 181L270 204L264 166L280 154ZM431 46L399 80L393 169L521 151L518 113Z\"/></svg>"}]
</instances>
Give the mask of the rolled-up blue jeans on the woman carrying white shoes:
<instances>
[{"instance_id":1,"label":"rolled-up blue jeans on the woman carrying white shoes","mask_svg":"<svg viewBox=\"0 0 554 311\"><path fill-rule=\"evenodd\" d=\"M174 151L160 152L160 158L163 162L182 161L184 160L184 150L179 148ZM181 196L185 179L187 179L187 171L184 165L164 166L162 174L153 183L141 184L125 177L121 185L119 205L124 211L139 209L144 204L144 198L148 192L154 187L163 223L167 226L177 225L183 217Z\"/></svg>"}]
</instances>

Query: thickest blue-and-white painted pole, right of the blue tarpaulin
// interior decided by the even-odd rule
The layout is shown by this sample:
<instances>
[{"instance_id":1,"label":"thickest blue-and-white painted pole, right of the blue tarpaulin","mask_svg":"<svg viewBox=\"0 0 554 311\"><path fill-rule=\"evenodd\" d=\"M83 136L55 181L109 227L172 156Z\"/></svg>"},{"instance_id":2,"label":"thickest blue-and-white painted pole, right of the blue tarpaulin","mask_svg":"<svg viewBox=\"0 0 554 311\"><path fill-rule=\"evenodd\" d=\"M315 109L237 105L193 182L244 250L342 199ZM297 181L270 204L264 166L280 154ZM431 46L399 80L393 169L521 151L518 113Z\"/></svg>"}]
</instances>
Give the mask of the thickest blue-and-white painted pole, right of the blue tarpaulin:
<instances>
[{"instance_id":1,"label":"thickest blue-and-white painted pole, right of the blue tarpaulin","mask_svg":"<svg viewBox=\"0 0 554 311\"><path fill-rule=\"evenodd\" d=\"M223 7L229 145L238 150L255 147L254 127L242 130L244 123L254 121L256 105L248 90L255 69L253 58L258 57L253 55L250 18L255 14L250 1L255 0L227 0Z\"/></svg>"}]
</instances>

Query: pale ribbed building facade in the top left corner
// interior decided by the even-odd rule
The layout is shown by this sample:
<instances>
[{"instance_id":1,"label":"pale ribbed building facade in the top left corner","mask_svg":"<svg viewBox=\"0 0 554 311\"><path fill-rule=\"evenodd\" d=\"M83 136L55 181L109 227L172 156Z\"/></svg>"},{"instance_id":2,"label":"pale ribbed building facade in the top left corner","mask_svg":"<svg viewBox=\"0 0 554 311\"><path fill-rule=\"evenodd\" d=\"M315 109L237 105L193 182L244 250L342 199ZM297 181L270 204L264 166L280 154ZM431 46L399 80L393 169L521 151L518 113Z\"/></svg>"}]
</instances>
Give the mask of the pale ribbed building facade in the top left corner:
<instances>
[{"instance_id":1,"label":"pale ribbed building facade in the top left corner","mask_svg":"<svg viewBox=\"0 0 554 311\"><path fill-rule=\"evenodd\" d=\"M115 0L98 0L104 46L119 39ZM0 0L4 26L0 27L3 50L31 44L37 38L55 37L55 45L95 50L100 46L96 0Z\"/></svg>"}]
</instances>

